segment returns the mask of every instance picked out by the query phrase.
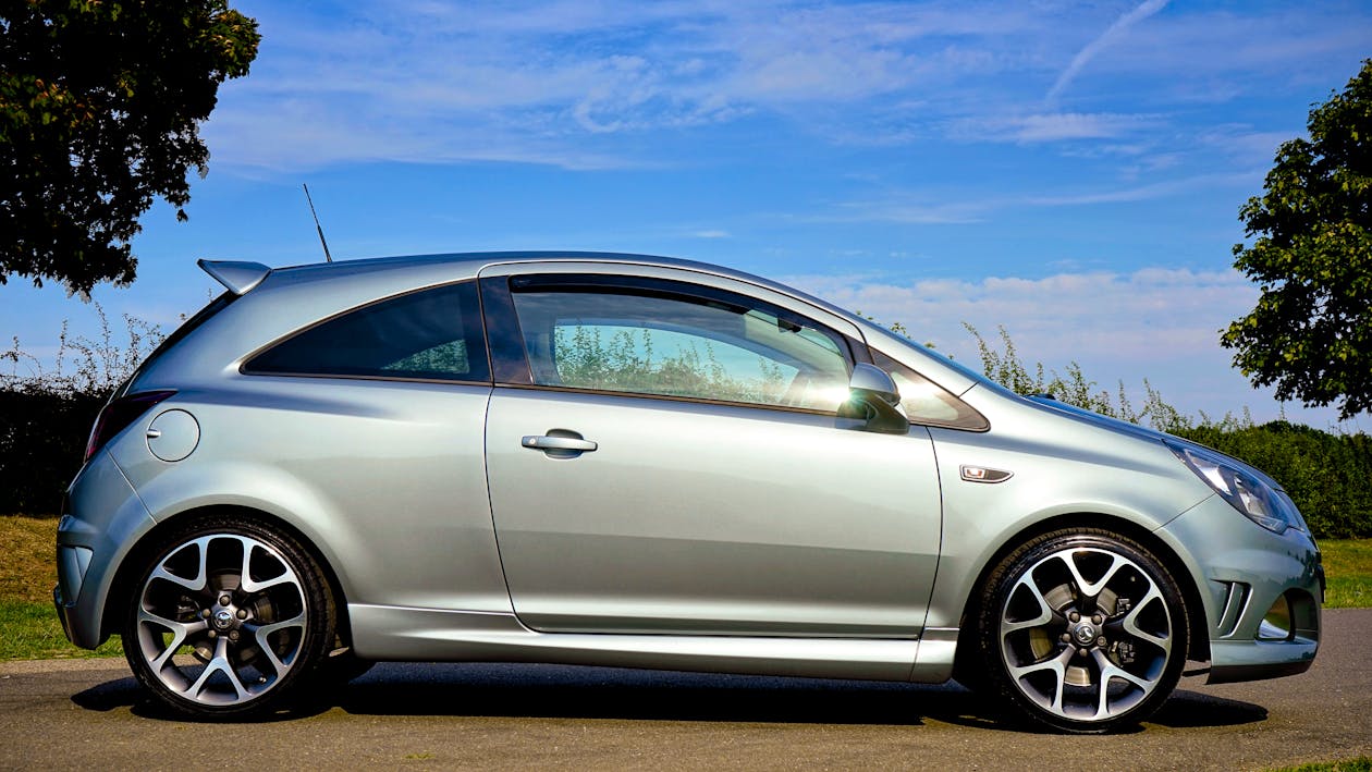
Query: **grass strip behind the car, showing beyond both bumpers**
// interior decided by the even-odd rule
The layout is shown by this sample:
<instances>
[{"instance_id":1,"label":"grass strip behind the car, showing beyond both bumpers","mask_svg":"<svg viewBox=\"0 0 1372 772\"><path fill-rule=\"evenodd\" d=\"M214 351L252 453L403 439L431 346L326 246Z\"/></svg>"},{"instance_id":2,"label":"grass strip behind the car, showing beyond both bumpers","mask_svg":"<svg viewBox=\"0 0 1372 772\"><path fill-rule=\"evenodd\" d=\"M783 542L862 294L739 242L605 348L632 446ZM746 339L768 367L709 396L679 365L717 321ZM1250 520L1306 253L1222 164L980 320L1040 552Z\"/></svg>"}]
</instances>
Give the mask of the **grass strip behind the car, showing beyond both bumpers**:
<instances>
[{"instance_id":1,"label":"grass strip behind the car, showing beyond both bumpers","mask_svg":"<svg viewBox=\"0 0 1372 772\"><path fill-rule=\"evenodd\" d=\"M0 516L0 661L54 657L118 657L113 638L95 651L77 649L62 635L52 610L58 521L52 517ZM1324 607L1372 606L1372 539L1325 539ZM1351 768L1365 769L1365 768ZM1368 771L1372 772L1372 771Z\"/></svg>"}]
</instances>

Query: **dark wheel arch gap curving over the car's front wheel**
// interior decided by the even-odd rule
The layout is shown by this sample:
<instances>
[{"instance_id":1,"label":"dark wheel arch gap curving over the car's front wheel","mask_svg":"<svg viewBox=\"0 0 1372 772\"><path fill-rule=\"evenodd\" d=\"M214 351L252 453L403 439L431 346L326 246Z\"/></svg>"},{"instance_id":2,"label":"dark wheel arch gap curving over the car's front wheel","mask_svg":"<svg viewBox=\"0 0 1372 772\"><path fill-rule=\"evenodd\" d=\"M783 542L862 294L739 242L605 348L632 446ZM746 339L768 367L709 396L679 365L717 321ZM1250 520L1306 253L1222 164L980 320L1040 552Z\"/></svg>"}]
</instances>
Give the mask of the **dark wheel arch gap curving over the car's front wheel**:
<instances>
[{"instance_id":1,"label":"dark wheel arch gap curving over the car's front wheel","mask_svg":"<svg viewBox=\"0 0 1372 772\"><path fill-rule=\"evenodd\" d=\"M955 662L958 662L956 666L959 666L959 669L960 665L965 662L965 657L967 655L967 653L971 650L971 647L975 646L974 640L975 631L971 629L974 624L971 624L970 620L974 620L977 617L980 603L985 598L985 592L982 590L986 584L986 579L991 576L991 572L995 570L997 565L1000 565L1000 562L1006 558L1006 555L1013 553L1025 542L1034 539L1036 536L1050 533L1052 531L1062 531L1070 528L1096 528L1096 529L1111 531L1114 533L1118 533L1121 536L1137 542L1139 544L1146 547L1150 553L1152 553L1152 555L1162 562L1163 568L1168 569L1168 573L1170 573L1172 579L1177 583L1177 588L1181 590L1181 596L1187 606L1185 607L1187 634L1188 634L1187 658L1196 661L1210 660L1210 631L1206 617L1205 601L1200 596L1200 590L1195 584L1195 577L1192 576L1191 570L1187 569L1187 565L1181 559L1181 555L1179 555L1176 550L1172 548L1170 544L1168 544L1165 540L1159 539L1154 532L1144 528L1143 525L1139 525L1137 522L1110 514L1078 511L1078 513L1059 514L1045 520L1040 520L1017 531L1015 533L1004 539L1002 544L991 554L991 558L985 561L985 564L977 572L977 579L975 581L971 583L969 588L969 595L962 606L962 616L959 620L959 632L958 632L958 649L955 654Z\"/></svg>"}]
</instances>

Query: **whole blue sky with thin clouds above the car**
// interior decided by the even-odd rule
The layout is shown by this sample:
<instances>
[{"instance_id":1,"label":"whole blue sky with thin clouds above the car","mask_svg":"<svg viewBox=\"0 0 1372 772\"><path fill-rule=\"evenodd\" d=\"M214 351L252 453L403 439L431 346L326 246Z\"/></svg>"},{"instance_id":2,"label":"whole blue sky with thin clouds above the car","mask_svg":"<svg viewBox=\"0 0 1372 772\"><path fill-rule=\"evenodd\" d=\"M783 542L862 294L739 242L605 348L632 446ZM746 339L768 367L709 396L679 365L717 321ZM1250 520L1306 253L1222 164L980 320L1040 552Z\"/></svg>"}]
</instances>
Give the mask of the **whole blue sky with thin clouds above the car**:
<instances>
[{"instance_id":1,"label":"whole blue sky with thin clouds above the car","mask_svg":"<svg viewBox=\"0 0 1372 772\"><path fill-rule=\"evenodd\" d=\"M158 204L111 315L176 325L202 256L665 254L781 278L975 361L1006 325L1050 367L1257 420L1218 329L1257 299L1239 206L1372 56L1365 3L233 0L263 36ZM60 288L0 287L51 357ZM1324 426L1332 410L1287 407ZM1356 425L1369 428L1367 417Z\"/></svg>"}]
</instances>

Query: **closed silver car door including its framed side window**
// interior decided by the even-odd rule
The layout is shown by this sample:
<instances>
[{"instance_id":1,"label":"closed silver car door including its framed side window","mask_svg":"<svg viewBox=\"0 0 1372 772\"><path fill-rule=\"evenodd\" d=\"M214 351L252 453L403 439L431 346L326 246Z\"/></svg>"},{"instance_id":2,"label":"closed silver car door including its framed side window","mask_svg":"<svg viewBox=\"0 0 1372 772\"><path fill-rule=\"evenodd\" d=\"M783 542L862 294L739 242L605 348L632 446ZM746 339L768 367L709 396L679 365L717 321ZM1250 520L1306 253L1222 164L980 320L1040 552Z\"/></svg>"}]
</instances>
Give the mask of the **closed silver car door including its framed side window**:
<instances>
[{"instance_id":1,"label":"closed silver car door including its framed side window","mask_svg":"<svg viewBox=\"0 0 1372 772\"><path fill-rule=\"evenodd\" d=\"M919 426L837 415L856 328L719 277L541 270L482 278L491 507L524 624L918 635L940 543L933 447Z\"/></svg>"}]
</instances>

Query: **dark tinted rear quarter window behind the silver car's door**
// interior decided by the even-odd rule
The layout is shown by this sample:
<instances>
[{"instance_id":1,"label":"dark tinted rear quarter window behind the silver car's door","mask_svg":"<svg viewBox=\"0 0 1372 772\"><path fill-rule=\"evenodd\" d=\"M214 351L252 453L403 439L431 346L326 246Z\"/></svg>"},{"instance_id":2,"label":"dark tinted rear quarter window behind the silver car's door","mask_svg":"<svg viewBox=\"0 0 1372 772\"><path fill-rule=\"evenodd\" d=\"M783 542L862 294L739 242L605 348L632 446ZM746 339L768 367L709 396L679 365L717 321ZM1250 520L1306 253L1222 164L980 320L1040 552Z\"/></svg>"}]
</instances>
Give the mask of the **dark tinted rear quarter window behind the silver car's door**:
<instances>
[{"instance_id":1,"label":"dark tinted rear quarter window behind the silver car's door","mask_svg":"<svg viewBox=\"0 0 1372 772\"><path fill-rule=\"evenodd\" d=\"M348 311L263 351L246 372L488 381L475 282Z\"/></svg>"}]
</instances>

